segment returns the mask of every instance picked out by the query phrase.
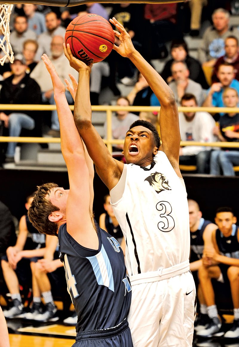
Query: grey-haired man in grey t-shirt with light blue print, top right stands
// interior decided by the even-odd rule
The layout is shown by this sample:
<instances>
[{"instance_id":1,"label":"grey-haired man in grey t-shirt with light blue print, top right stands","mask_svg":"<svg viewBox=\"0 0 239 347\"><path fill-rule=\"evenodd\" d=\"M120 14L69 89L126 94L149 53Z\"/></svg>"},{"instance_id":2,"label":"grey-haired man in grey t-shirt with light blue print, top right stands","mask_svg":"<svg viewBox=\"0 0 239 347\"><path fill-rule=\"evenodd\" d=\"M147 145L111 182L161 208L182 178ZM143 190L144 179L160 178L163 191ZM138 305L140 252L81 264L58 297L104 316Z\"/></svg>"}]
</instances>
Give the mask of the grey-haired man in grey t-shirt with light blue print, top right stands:
<instances>
[{"instance_id":1,"label":"grey-haired man in grey t-shirt with light blue print, top right stands","mask_svg":"<svg viewBox=\"0 0 239 347\"><path fill-rule=\"evenodd\" d=\"M206 29L198 49L198 59L203 66L213 67L216 59L225 54L224 39L227 36L239 38L237 28L229 28L229 17L229 12L223 8L214 10L213 26Z\"/></svg>"}]
</instances>

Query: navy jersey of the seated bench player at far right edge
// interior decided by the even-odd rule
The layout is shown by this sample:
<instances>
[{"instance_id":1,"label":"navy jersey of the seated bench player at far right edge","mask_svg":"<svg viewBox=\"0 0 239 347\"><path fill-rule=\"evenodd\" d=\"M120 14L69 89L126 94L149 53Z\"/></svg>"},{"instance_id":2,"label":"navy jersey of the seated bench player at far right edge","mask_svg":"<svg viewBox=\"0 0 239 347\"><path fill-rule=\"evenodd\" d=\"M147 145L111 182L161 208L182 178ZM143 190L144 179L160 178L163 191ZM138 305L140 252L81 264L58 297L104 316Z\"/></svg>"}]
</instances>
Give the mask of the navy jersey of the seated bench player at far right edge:
<instances>
[{"instance_id":1,"label":"navy jersey of the seated bench player at far right edge","mask_svg":"<svg viewBox=\"0 0 239 347\"><path fill-rule=\"evenodd\" d=\"M216 243L219 248L220 254L239 259L239 242L237 240L238 226L232 225L232 233L230 236L223 236L222 232L216 230Z\"/></svg>"}]
</instances>

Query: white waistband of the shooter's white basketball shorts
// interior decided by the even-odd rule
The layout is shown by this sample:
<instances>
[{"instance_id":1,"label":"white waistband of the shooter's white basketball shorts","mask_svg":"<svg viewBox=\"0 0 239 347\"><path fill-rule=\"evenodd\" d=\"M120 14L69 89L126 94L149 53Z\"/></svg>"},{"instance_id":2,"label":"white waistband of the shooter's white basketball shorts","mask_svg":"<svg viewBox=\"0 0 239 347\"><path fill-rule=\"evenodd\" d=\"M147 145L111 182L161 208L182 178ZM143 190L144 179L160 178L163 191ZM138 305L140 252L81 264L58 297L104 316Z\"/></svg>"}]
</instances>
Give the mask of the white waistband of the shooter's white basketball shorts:
<instances>
[{"instance_id":1,"label":"white waistband of the shooter's white basketball shorts","mask_svg":"<svg viewBox=\"0 0 239 347\"><path fill-rule=\"evenodd\" d=\"M166 280L168 278L181 275L190 269L189 260L183 263L170 266L170 268L159 268L157 271L149 271L130 276L130 284L132 286L140 283L149 283Z\"/></svg>"}]
</instances>

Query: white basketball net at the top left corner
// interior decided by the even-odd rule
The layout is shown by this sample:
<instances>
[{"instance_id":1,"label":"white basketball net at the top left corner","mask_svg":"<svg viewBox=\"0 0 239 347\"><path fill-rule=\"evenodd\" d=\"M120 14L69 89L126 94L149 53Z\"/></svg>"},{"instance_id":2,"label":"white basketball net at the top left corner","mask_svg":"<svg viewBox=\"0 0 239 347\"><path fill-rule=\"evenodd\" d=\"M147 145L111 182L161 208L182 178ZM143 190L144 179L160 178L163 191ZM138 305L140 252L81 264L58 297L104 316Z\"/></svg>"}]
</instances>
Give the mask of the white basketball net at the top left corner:
<instances>
[{"instance_id":1,"label":"white basketball net at the top left corner","mask_svg":"<svg viewBox=\"0 0 239 347\"><path fill-rule=\"evenodd\" d=\"M0 64L3 65L5 60L8 58L12 63L14 60L13 49L9 41L10 28L9 20L13 5L0 5ZM2 57L2 55L4 56ZM2 57L2 58L1 58Z\"/></svg>"}]
</instances>

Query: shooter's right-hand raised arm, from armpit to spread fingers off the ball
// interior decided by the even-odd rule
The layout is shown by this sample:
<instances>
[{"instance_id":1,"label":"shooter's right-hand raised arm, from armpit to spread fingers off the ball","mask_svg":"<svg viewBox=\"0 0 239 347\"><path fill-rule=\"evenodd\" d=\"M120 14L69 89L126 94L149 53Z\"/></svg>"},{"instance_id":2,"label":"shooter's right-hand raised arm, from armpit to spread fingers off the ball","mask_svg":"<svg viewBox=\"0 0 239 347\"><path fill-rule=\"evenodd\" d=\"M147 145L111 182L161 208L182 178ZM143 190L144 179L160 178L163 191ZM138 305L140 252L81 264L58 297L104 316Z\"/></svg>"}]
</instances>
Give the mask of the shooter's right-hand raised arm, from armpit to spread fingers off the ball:
<instances>
[{"instance_id":1,"label":"shooter's right-hand raised arm, from armpit to spread fingers off the ball","mask_svg":"<svg viewBox=\"0 0 239 347\"><path fill-rule=\"evenodd\" d=\"M179 171L179 116L174 94L157 71L137 50L135 50L130 36L123 25L115 18L110 19L110 22L119 30L115 31L115 35L121 41L121 44L118 47L114 45L113 49L121 56L129 58L133 62L141 74L146 78L150 88L153 90L160 102L161 109L159 125L162 139L160 150L165 152L176 173L181 176Z\"/></svg>"}]
</instances>

